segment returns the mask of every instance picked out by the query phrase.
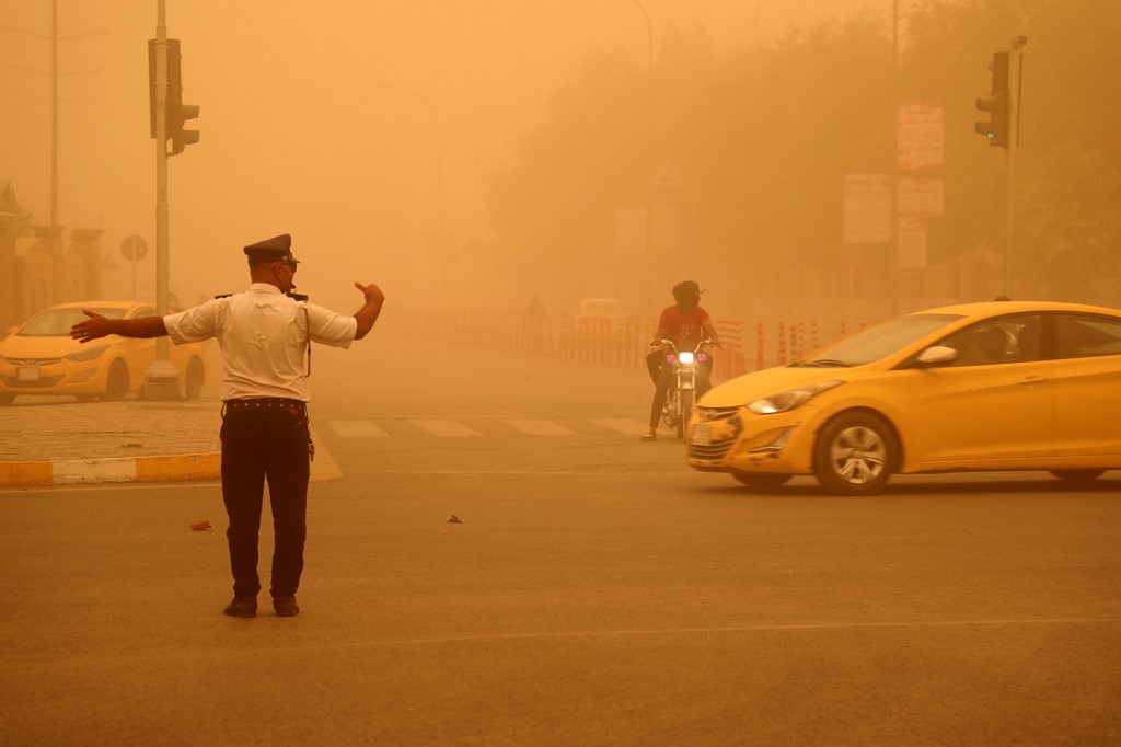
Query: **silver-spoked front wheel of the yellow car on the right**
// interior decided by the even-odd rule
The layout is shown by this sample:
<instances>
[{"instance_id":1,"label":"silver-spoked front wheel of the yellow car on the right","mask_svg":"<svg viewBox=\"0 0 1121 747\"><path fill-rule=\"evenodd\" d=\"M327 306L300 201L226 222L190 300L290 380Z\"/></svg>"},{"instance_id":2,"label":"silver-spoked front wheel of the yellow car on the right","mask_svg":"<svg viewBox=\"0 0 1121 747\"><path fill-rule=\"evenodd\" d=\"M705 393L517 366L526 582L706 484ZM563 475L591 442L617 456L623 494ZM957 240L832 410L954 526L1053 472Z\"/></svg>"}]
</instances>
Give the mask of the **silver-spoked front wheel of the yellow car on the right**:
<instances>
[{"instance_id":1,"label":"silver-spoked front wheel of the yellow car on the right","mask_svg":"<svg viewBox=\"0 0 1121 747\"><path fill-rule=\"evenodd\" d=\"M825 424L814 444L814 477L841 496L883 489L899 461L895 434L869 413L842 414Z\"/></svg>"}]
</instances>

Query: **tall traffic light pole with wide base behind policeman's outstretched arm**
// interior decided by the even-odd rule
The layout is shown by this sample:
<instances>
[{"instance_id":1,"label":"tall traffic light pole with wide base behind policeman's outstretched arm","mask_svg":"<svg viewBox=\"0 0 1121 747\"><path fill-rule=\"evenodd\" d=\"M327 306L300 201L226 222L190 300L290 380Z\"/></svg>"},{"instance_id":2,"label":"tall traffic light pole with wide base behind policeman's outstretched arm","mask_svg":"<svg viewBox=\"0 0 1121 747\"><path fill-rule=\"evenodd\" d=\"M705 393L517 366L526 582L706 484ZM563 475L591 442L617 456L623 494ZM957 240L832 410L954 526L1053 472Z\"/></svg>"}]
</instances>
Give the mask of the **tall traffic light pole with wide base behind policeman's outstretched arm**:
<instances>
[{"instance_id":1,"label":"tall traffic light pole with wide base behind policeman's outstretched arm","mask_svg":"<svg viewBox=\"0 0 1121 747\"><path fill-rule=\"evenodd\" d=\"M166 0L156 0L156 313L167 314L168 210L167 210L167 22ZM179 399L179 369L168 359L167 338L156 338L156 360L143 372L141 399Z\"/></svg>"}]
</instances>

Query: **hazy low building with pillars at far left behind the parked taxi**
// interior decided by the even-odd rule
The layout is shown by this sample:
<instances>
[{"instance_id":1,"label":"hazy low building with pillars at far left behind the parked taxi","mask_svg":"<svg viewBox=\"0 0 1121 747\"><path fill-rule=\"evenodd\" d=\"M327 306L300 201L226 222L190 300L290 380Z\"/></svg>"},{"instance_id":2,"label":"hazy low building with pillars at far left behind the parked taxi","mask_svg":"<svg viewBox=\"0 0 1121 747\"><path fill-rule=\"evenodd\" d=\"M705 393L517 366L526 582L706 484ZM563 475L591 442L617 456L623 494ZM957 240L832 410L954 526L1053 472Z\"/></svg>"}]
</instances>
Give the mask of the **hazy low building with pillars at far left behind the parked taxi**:
<instances>
[{"instance_id":1,"label":"hazy low building with pillars at far left behind the parked taxi","mask_svg":"<svg viewBox=\"0 0 1121 747\"><path fill-rule=\"evenodd\" d=\"M0 177L0 339L44 308L96 298L101 267L101 229L33 224Z\"/></svg>"}]
</instances>

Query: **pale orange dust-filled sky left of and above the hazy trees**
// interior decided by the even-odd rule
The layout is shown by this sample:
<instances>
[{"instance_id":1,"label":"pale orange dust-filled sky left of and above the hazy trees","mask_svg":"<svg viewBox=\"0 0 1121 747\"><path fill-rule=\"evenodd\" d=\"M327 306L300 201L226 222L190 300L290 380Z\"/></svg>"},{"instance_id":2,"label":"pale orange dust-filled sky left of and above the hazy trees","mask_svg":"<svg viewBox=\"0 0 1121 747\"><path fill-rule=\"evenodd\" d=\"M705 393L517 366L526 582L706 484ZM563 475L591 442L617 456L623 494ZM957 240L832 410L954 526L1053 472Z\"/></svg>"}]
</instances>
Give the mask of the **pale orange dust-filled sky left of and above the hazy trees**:
<instances>
[{"instance_id":1,"label":"pale orange dust-filled sky left of and above the hazy trees","mask_svg":"<svg viewBox=\"0 0 1121 747\"><path fill-rule=\"evenodd\" d=\"M891 0L642 6L655 54L670 26L703 26L728 53L796 20L891 12ZM0 0L0 182L40 224L50 7ZM103 229L113 252L133 233L154 243L146 40L157 2L57 8L59 223ZM328 277L305 289L405 271L385 256L416 253L441 215L457 240L485 241L487 178L516 162L550 93L595 49L621 48L645 66L648 42L634 0L167 0L167 28L182 43L184 99L202 107L201 142L169 160L172 286L189 301L241 287L240 247L281 232L297 255L331 258L330 273L319 268ZM141 264L140 275L152 270Z\"/></svg>"}]
</instances>

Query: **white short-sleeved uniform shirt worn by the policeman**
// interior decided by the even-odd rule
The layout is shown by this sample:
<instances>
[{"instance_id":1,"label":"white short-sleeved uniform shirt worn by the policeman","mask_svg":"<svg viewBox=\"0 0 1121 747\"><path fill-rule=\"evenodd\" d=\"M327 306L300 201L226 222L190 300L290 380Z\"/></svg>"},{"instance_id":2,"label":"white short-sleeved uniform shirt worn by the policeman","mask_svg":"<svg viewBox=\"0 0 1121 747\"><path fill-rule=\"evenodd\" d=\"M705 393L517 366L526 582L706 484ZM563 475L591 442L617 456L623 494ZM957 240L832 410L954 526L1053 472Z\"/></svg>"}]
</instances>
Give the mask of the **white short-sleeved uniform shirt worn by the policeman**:
<instances>
[{"instance_id":1,"label":"white short-sleeved uniform shirt worn by the policeman","mask_svg":"<svg viewBox=\"0 0 1121 747\"><path fill-rule=\"evenodd\" d=\"M306 310L306 313L305 313ZM350 348L358 320L253 283L244 293L215 298L164 317L175 343L217 338L225 375L221 398L287 397L309 402L305 377L308 340Z\"/></svg>"}]
</instances>

